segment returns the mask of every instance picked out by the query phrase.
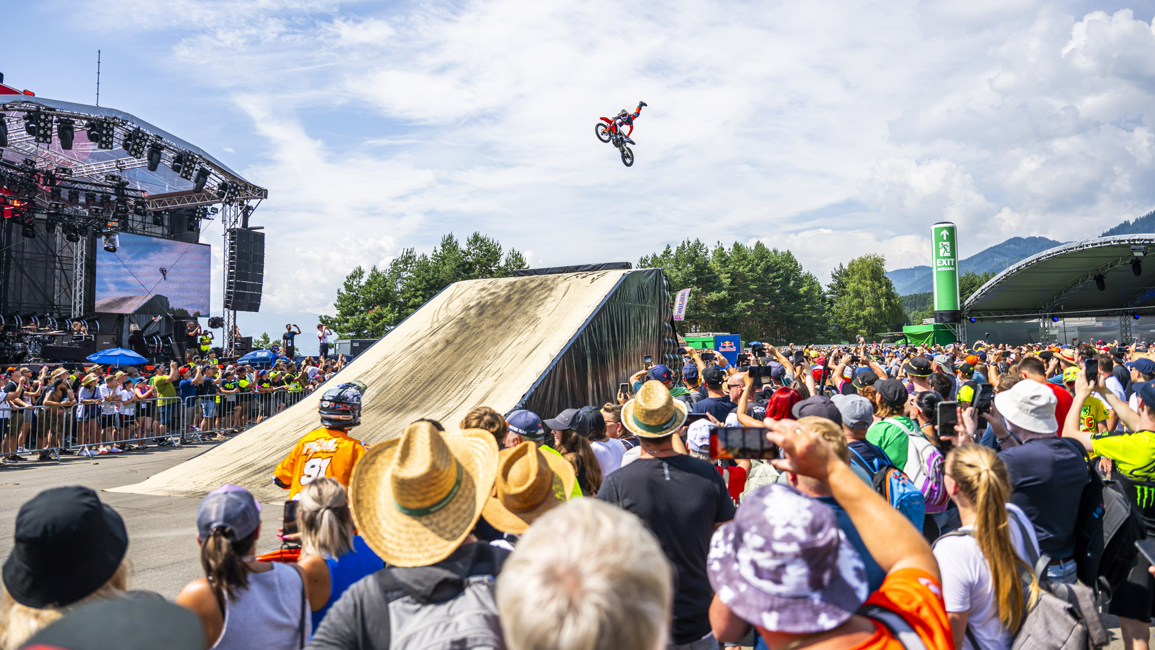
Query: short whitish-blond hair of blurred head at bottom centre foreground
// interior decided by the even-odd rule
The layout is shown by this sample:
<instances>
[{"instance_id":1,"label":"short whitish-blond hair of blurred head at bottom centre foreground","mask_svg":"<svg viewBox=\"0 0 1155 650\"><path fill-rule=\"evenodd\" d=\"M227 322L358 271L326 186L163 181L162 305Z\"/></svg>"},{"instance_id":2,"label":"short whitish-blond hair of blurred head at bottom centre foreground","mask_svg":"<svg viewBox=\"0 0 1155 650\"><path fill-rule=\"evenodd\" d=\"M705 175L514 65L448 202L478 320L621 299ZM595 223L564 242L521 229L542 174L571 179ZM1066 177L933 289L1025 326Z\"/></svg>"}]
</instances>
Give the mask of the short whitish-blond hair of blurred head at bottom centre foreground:
<instances>
[{"instance_id":1,"label":"short whitish-blond hair of blurred head at bottom centre foreground","mask_svg":"<svg viewBox=\"0 0 1155 650\"><path fill-rule=\"evenodd\" d=\"M537 520L497 581L509 650L665 648L672 595L673 571L654 533L596 499Z\"/></svg>"}]
</instances>

